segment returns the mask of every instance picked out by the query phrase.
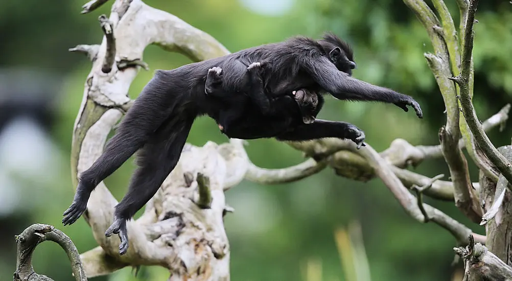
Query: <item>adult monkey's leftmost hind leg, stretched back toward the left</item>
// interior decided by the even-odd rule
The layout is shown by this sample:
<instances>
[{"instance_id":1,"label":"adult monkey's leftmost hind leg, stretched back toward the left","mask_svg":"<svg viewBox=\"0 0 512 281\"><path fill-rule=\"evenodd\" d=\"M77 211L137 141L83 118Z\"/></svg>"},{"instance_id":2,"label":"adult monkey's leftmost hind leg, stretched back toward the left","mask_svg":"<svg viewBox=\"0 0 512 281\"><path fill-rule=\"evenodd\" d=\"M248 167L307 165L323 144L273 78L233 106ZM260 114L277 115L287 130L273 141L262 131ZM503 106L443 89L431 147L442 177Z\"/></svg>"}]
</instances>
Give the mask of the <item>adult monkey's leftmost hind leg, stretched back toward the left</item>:
<instances>
[{"instance_id":1,"label":"adult monkey's leftmost hind leg, stretched back toward the left","mask_svg":"<svg viewBox=\"0 0 512 281\"><path fill-rule=\"evenodd\" d=\"M155 102L168 90L164 80L159 79L158 75L157 72L155 78L144 87L101 156L80 175L73 203L63 213L62 224L70 225L80 218L94 188L137 152L150 134L160 126L168 111L173 109L174 106L161 100Z\"/></svg>"}]
</instances>

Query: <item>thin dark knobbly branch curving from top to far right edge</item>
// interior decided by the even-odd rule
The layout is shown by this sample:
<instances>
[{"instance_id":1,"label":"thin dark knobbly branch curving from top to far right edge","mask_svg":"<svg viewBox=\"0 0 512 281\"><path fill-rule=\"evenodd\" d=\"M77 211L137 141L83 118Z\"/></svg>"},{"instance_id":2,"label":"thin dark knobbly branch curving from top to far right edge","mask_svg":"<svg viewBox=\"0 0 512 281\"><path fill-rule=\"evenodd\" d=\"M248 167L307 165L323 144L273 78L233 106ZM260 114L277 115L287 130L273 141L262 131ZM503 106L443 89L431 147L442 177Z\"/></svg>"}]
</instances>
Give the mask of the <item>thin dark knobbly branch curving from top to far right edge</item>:
<instances>
[{"instance_id":1,"label":"thin dark knobbly branch curving from top to far right edge","mask_svg":"<svg viewBox=\"0 0 512 281\"><path fill-rule=\"evenodd\" d=\"M460 87L460 102L462 112L466 118L467 125L471 129L471 133L475 137L479 148L482 149L485 156L498 168L501 174L512 183L512 165L507 159L501 155L496 147L490 142L489 138L483 131L482 125L475 113L473 103L470 97L470 81L471 74L471 57L473 52L473 25L475 21L475 13L477 10L478 0L472 0L467 13L466 28L464 30L464 44L462 50L461 73L456 77L452 77Z\"/></svg>"}]
</instances>

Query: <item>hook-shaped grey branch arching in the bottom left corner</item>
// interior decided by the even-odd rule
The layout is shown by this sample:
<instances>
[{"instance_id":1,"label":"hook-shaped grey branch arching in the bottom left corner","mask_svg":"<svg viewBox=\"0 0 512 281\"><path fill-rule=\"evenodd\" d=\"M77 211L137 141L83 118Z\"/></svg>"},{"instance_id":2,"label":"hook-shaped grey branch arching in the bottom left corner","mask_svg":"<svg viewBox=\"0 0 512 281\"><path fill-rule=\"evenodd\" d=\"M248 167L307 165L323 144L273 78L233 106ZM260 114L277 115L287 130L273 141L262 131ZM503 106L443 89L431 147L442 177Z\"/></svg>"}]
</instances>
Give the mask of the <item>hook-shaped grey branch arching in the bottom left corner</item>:
<instances>
[{"instance_id":1,"label":"hook-shaped grey branch arching in the bottom left corner","mask_svg":"<svg viewBox=\"0 0 512 281\"><path fill-rule=\"evenodd\" d=\"M71 270L77 281L87 281L87 275L83 271L80 255L71 241L70 237L64 232L47 224L33 224L27 227L21 234L16 236L17 258L16 271L14 272L15 281L28 280L51 280L45 275L39 275L32 268L32 253L37 245L45 241L53 241L62 247L69 260L71 261Z\"/></svg>"}]
</instances>

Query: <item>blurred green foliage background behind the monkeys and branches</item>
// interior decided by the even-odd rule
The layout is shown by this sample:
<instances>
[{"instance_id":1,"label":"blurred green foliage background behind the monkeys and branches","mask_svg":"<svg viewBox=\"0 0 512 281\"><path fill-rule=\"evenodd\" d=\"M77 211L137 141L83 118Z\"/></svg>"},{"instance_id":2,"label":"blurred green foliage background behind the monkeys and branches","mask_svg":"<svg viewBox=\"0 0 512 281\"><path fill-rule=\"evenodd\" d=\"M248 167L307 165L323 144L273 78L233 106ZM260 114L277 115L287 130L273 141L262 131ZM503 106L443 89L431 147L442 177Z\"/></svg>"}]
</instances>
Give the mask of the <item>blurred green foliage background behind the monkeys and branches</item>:
<instances>
[{"instance_id":1,"label":"blurred green foliage background behind the monkeys and branches","mask_svg":"<svg viewBox=\"0 0 512 281\"><path fill-rule=\"evenodd\" d=\"M113 1L111 1L113 2ZM83 219L62 227L61 214L72 201L70 149L73 123L91 63L69 53L77 44L98 44L97 17L110 12L109 2L87 15L77 0L0 1L0 280L15 270L14 235L32 223L65 231L80 252L97 246ZM355 50L354 76L413 96L424 119L389 104L351 103L327 97L319 118L351 122L367 142L381 151L395 138L414 145L438 144L445 123L444 105L426 66L423 52L430 40L414 14L398 0L146 0L208 32L228 50L281 41L301 34L318 38L330 30ZM458 9L446 0L456 23ZM428 3L431 5L431 3ZM481 1L475 38L475 106L483 120L498 112L512 95L512 5ZM141 71L130 88L135 98L156 69L190 62L185 56L150 46L144 53L151 70ZM27 72L32 71L32 72ZM25 77L20 80L10 78ZM3 84L2 84L3 83ZM16 102L20 93L40 92L33 104ZM27 118L17 118L25 116ZM25 121L24 121L25 120ZM28 121L27 121L28 120ZM510 143L510 126L489 133L496 146ZM196 121L188 141L225 142L214 121ZM275 141L253 140L246 147L262 167L281 168L303 161L302 154ZM470 163L472 180L478 181ZM106 180L121 199L134 167L123 165ZM424 162L426 176L449 172L442 159ZM300 182L258 185L244 181L226 194L236 210L226 215L231 246L232 280L305 280L308 261L322 265L323 280L345 280L334 231L359 222L372 280L450 280L454 272L454 238L434 224L420 224L402 210L379 180L355 182L326 169ZM452 202L425 199L474 231ZM35 270L55 280L73 280L66 254L45 243L35 251ZM459 264L460 267L460 264ZM165 280L163 268L130 268L93 280Z\"/></svg>"}]
</instances>

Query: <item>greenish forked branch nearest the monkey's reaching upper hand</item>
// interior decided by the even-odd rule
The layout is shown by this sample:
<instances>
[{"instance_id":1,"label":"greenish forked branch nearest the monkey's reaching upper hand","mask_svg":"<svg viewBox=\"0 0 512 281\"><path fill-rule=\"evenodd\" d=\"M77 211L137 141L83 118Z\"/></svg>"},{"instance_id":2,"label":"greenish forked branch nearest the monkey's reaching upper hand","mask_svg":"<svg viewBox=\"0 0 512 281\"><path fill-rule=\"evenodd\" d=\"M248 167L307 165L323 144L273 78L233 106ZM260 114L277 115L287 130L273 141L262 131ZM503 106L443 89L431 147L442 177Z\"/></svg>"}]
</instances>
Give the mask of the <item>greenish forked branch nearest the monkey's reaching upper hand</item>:
<instances>
[{"instance_id":1,"label":"greenish forked branch nearest the monkey's reaching upper hand","mask_svg":"<svg viewBox=\"0 0 512 281\"><path fill-rule=\"evenodd\" d=\"M452 81L447 79L453 76L452 69L456 69L458 73L458 51L455 46L453 21L442 0L434 1L434 6L443 19L444 27L442 33L436 32L436 27L440 26L439 20L424 1L404 0L404 2L416 13L434 47L434 54L425 53L424 56L436 78L446 106L446 125L441 128L439 137L442 154L448 164L454 184L456 206L472 221L480 222L482 210L479 202L476 201L478 196L471 185L467 161L458 145L461 136L459 104L456 98L458 89ZM450 61L452 61L452 66L450 66ZM471 143L466 143L466 145L471 145Z\"/></svg>"}]
</instances>

